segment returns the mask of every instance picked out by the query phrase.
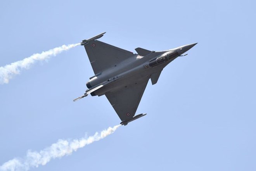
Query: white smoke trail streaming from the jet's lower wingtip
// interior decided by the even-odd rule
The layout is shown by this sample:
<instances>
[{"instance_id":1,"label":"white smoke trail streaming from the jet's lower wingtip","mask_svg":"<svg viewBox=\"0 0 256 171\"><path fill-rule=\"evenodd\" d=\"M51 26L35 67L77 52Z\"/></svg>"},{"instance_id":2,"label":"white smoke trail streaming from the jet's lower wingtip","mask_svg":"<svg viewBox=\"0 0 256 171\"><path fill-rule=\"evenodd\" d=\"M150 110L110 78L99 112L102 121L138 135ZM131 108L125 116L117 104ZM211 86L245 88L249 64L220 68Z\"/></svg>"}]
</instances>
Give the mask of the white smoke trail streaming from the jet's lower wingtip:
<instances>
[{"instance_id":1,"label":"white smoke trail streaming from the jet's lower wingtip","mask_svg":"<svg viewBox=\"0 0 256 171\"><path fill-rule=\"evenodd\" d=\"M93 136L88 138L84 137L71 141L60 139L50 147L47 147L40 152L32 152L31 150L28 150L24 159L14 158L7 161L2 166L0 166L0 171L27 171L30 168L38 167L39 165L45 165L51 159L55 159L57 157L61 158L62 156L72 154L73 151L76 151L85 145L104 139L111 133L114 133L120 126L121 125L116 125L113 128L109 127L100 133L96 132Z\"/></svg>"}]
</instances>

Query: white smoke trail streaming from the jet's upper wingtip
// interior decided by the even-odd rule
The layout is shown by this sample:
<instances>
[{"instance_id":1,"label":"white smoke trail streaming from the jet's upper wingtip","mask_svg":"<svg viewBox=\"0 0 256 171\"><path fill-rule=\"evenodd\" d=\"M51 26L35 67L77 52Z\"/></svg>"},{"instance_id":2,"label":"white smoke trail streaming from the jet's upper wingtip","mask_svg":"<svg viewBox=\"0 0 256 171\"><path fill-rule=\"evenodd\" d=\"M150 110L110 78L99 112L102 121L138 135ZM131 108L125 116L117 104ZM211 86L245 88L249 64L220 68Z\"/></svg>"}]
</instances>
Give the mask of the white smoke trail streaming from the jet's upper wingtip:
<instances>
[{"instance_id":1,"label":"white smoke trail streaming from the jet's upper wingtip","mask_svg":"<svg viewBox=\"0 0 256 171\"><path fill-rule=\"evenodd\" d=\"M79 44L80 43L62 45L60 47L53 48L48 51L43 51L42 53L33 54L28 58L25 58L17 62L13 62L9 65L5 65L4 67L0 67L0 84L8 84L9 80L12 79L14 75L19 74L21 69L29 69L30 65L32 65L36 61L47 60L50 57L56 56L62 51L67 51L75 46L78 46Z\"/></svg>"}]
</instances>

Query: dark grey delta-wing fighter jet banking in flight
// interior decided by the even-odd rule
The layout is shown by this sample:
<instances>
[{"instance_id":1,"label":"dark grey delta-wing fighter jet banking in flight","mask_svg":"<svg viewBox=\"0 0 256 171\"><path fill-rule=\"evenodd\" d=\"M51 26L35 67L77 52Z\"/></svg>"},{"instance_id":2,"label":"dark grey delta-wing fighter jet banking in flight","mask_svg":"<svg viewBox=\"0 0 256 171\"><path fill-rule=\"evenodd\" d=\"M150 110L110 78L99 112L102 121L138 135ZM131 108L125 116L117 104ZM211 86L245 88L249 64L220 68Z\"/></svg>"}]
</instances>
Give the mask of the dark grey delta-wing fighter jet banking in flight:
<instances>
[{"instance_id":1,"label":"dark grey delta-wing fighter jet banking in flight","mask_svg":"<svg viewBox=\"0 0 256 171\"><path fill-rule=\"evenodd\" d=\"M127 125L146 115L134 116L149 79L152 85L156 84L163 68L178 56L185 56L182 54L197 43L165 51L136 48L138 54L134 54L96 40L105 33L81 42L95 75L86 83L85 94L74 101L88 94L105 95L121 119L120 124Z\"/></svg>"}]
</instances>

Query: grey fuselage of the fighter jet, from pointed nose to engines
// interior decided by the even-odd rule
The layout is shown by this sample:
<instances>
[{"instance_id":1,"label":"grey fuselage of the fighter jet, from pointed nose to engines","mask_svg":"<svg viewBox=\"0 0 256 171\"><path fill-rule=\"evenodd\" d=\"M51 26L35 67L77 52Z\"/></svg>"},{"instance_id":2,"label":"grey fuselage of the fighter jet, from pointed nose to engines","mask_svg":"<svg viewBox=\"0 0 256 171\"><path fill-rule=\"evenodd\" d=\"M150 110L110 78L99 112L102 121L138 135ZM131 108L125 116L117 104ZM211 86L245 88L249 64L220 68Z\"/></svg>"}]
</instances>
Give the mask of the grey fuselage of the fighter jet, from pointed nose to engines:
<instances>
[{"instance_id":1,"label":"grey fuselage of the fighter jet, from pointed nose to engines","mask_svg":"<svg viewBox=\"0 0 256 171\"><path fill-rule=\"evenodd\" d=\"M102 96L110 90L112 91L125 87L127 82L123 80L130 77L133 77L135 80L140 80L140 78L144 77L150 78L153 73L163 70L166 65L185 53L194 45L195 44L188 44L166 51L152 51L145 56L134 54L123 62L117 63L114 67L91 77L86 83L86 86L91 89L93 87L97 87L103 82L109 82L106 86L91 93L92 96ZM122 84L122 82L124 83Z\"/></svg>"}]
</instances>

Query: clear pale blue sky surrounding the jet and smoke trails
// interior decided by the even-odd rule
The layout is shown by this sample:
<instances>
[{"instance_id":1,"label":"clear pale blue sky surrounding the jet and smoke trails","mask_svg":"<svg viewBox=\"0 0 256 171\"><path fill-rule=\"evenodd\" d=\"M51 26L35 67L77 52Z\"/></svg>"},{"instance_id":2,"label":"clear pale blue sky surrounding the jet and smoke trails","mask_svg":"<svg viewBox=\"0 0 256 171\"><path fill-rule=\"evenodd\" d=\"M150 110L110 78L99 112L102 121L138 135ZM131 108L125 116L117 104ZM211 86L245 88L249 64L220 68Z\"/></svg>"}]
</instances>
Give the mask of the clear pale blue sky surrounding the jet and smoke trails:
<instances>
[{"instance_id":1,"label":"clear pale blue sky surrounding the jet and smoke trails","mask_svg":"<svg viewBox=\"0 0 256 171\"><path fill-rule=\"evenodd\" d=\"M106 31L135 52L198 43L164 68L137 109L147 116L35 171L256 170L256 2L1 1L0 66ZM58 139L120 123L105 96L79 101L93 70L82 46L0 85L0 165Z\"/></svg>"}]
</instances>

